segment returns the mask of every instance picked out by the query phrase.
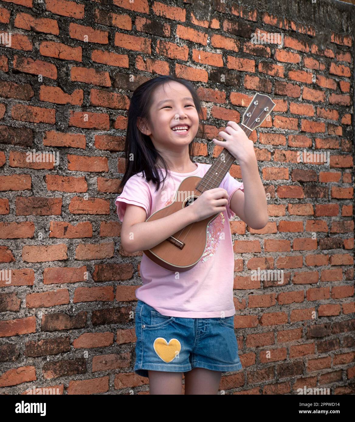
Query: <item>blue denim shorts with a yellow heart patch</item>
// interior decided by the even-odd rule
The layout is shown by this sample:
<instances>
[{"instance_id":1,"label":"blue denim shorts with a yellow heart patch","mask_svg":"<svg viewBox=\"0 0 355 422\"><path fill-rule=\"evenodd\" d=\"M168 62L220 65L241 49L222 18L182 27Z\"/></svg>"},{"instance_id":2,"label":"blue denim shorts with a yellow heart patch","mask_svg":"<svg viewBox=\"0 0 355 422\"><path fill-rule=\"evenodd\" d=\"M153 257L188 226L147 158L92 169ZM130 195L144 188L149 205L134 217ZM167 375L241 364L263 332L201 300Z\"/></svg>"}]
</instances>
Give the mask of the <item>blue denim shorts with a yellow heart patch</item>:
<instances>
[{"instance_id":1,"label":"blue denim shorts with a yellow heart patch","mask_svg":"<svg viewBox=\"0 0 355 422\"><path fill-rule=\"evenodd\" d=\"M162 315L138 300L134 371L187 372L193 368L240 371L234 315L225 318L182 318Z\"/></svg>"}]
</instances>

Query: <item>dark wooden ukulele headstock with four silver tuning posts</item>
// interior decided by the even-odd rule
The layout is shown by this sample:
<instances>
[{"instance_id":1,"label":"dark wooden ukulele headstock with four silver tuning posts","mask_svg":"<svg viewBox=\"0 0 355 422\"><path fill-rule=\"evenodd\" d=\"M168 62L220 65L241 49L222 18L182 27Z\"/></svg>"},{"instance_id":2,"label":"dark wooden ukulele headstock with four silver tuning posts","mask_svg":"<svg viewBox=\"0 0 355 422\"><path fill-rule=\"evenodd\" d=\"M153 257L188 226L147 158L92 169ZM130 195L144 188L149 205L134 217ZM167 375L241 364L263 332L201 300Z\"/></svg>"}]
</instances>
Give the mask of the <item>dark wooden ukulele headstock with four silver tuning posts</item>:
<instances>
[{"instance_id":1,"label":"dark wooden ukulele headstock with four silver tuning posts","mask_svg":"<svg viewBox=\"0 0 355 422\"><path fill-rule=\"evenodd\" d=\"M247 127L251 131L259 127L262 122L268 117L272 109L276 104L271 100L268 95L255 94L251 100L248 108L243 114L242 123L243 126Z\"/></svg>"}]
</instances>

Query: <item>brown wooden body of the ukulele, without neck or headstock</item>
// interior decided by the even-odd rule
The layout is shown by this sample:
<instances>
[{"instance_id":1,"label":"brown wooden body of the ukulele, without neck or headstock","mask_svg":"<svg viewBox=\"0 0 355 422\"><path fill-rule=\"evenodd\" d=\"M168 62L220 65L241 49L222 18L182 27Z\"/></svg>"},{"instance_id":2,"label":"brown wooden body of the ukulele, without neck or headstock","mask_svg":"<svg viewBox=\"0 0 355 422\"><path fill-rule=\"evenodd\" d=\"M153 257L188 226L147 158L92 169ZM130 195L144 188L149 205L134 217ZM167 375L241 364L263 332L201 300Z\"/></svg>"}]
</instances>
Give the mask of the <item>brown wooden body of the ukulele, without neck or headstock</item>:
<instances>
[{"instance_id":1,"label":"brown wooden body of the ukulele, without neck or headstock","mask_svg":"<svg viewBox=\"0 0 355 422\"><path fill-rule=\"evenodd\" d=\"M191 205L191 199L198 200L197 198L202 194L202 192L196 190L196 186L201 179L198 176L186 177L180 183L175 193L174 201L154 212L146 219L146 222L164 218L186 206L193 206ZM143 252L150 260L169 271L188 271L197 265L202 258L207 246L208 225L219 214L193 222L171 235L168 239Z\"/></svg>"}]
</instances>

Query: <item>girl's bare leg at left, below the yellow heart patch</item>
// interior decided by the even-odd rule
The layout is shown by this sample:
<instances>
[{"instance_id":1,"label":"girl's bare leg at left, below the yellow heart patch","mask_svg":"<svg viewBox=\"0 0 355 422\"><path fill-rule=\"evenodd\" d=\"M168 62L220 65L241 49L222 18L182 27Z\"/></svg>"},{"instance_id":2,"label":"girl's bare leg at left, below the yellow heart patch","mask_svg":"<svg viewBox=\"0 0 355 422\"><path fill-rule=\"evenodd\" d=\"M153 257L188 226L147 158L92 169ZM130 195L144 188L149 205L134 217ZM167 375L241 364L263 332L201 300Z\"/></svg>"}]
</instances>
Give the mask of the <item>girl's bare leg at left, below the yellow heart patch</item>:
<instances>
[{"instance_id":1,"label":"girl's bare leg at left, below the yellow heart patch","mask_svg":"<svg viewBox=\"0 0 355 422\"><path fill-rule=\"evenodd\" d=\"M182 372L148 371L149 394L183 394Z\"/></svg>"}]
</instances>

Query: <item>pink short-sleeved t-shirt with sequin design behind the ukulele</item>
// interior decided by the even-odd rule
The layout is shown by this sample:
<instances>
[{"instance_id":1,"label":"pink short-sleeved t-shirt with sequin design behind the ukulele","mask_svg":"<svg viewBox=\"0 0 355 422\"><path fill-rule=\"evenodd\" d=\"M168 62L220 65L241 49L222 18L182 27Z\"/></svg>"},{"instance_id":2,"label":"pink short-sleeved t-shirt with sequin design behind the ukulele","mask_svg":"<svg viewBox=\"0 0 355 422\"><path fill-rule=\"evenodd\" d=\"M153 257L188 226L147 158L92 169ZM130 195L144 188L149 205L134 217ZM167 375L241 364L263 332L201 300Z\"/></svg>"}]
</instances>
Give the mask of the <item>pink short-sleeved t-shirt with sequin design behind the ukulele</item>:
<instances>
[{"instance_id":1,"label":"pink short-sleeved t-shirt with sequin design behind the ukulele","mask_svg":"<svg viewBox=\"0 0 355 422\"><path fill-rule=\"evenodd\" d=\"M169 171L164 187L155 192L156 185L147 182L142 173L131 176L121 194L117 197L117 215L120 221L127 204L145 209L148 218L155 211L164 208L174 200L175 192L187 176L203 177L210 164L196 163L197 168L190 173ZM164 173L164 170L162 170ZM226 174L219 187L229 195L227 216L221 212L208 225L207 246L202 258L191 270L175 272L166 270L150 260L143 253L140 275L143 285L136 290L139 300L153 306L158 312L171 317L216 318L230 317L235 314L233 302L234 252L229 219L235 213L229 202L237 189L243 191L243 183ZM169 198L161 194L169 192ZM171 194L171 195L170 195ZM165 197L164 197L165 196ZM228 218L227 218L228 217Z\"/></svg>"}]
</instances>

